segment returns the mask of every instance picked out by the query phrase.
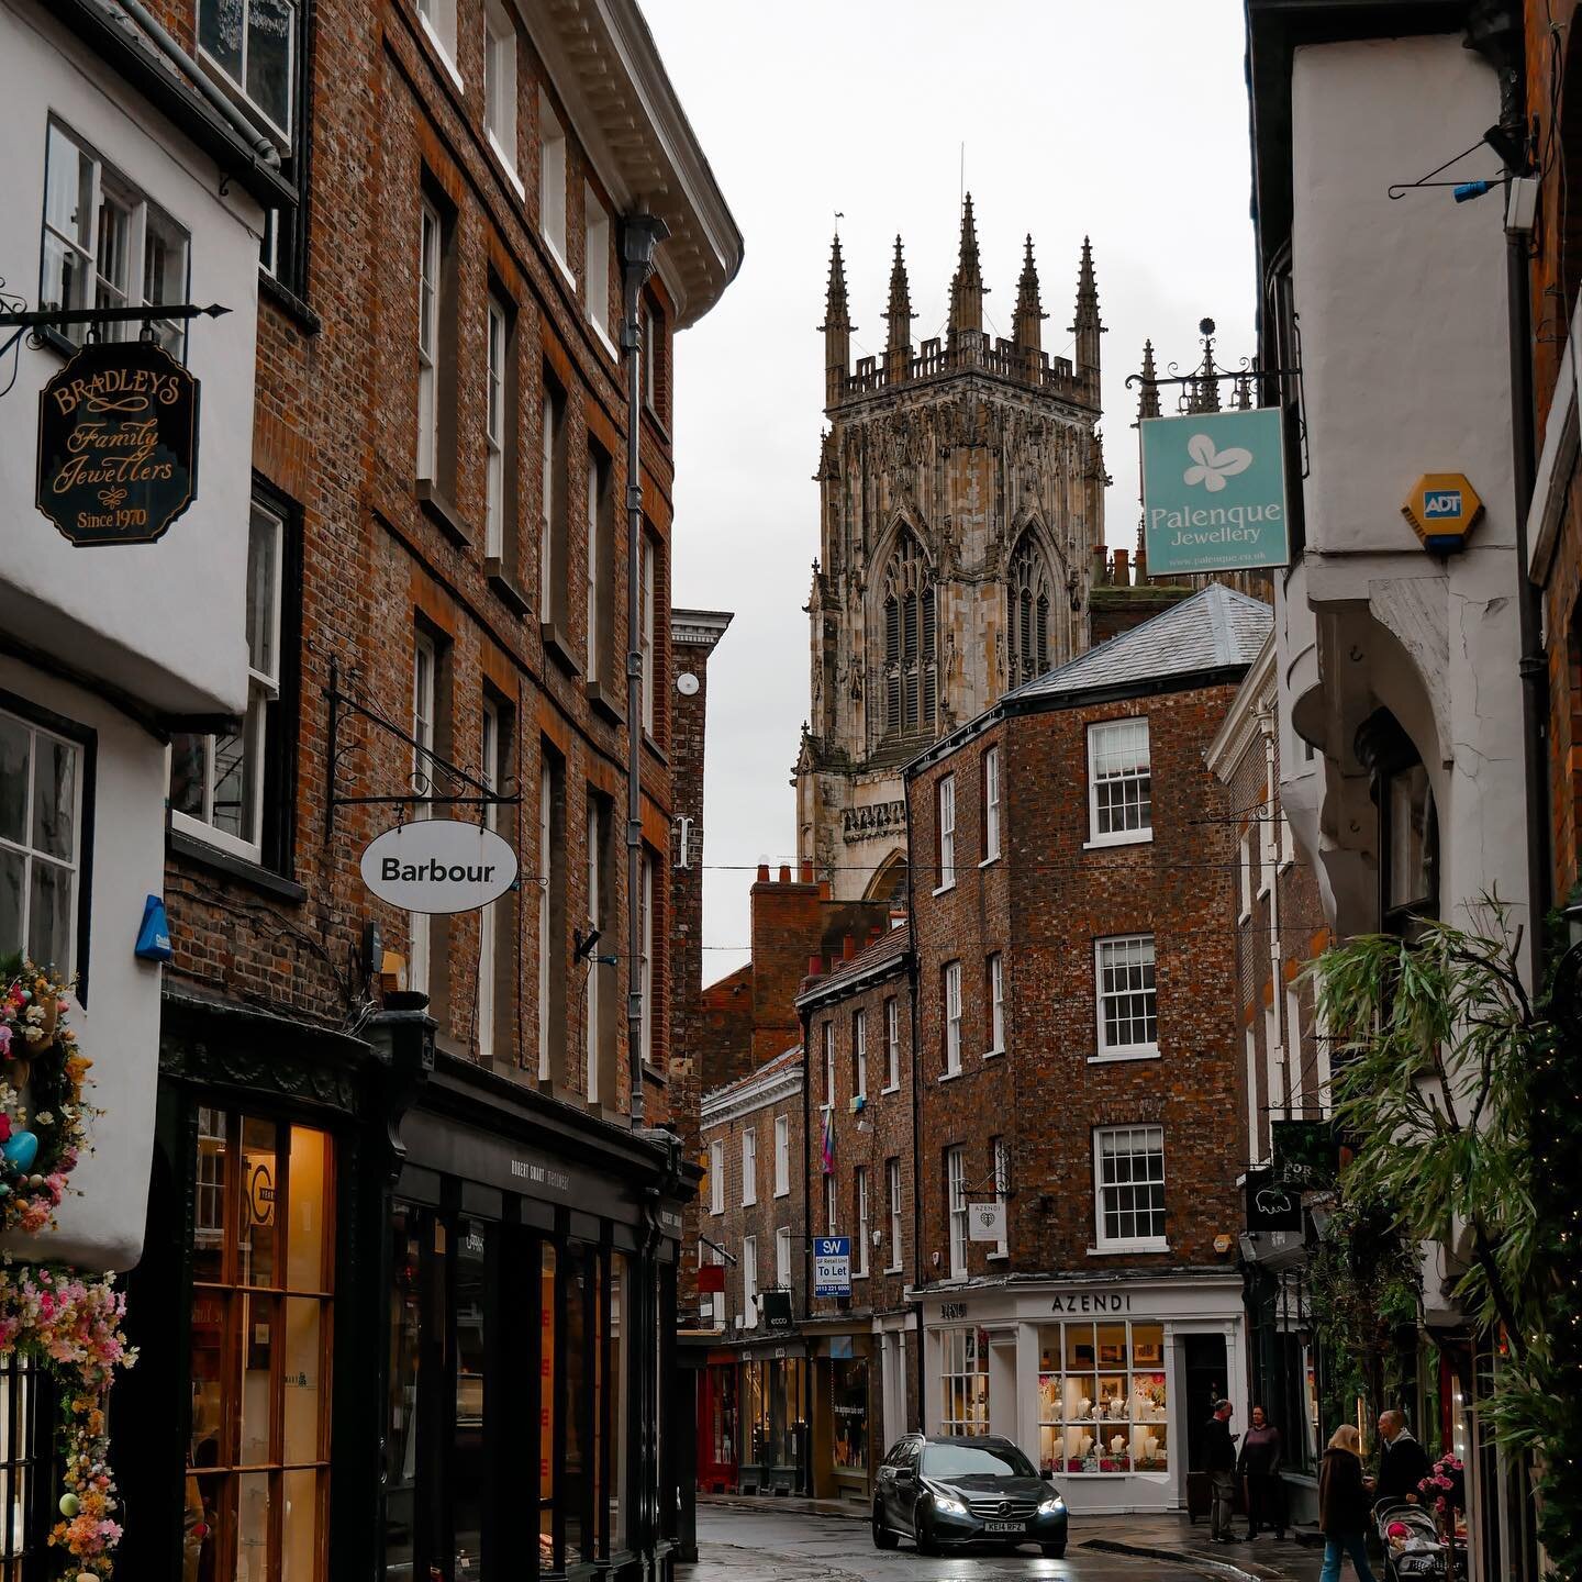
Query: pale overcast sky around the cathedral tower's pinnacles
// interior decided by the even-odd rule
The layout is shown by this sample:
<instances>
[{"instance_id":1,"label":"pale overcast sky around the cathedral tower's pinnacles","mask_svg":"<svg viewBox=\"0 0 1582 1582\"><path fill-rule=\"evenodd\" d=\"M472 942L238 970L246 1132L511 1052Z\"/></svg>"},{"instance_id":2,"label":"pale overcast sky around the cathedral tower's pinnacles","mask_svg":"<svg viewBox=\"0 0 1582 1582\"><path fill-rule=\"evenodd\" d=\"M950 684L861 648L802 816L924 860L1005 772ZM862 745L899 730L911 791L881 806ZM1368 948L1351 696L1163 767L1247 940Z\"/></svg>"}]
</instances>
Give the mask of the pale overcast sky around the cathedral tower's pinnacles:
<instances>
[{"instance_id":1,"label":"pale overcast sky around the cathedral tower's pinnacles","mask_svg":"<svg viewBox=\"0 0 1582 1582\"><path fill-rule=\"evenodd\" d=\"M823 323L835 210L854 356L884 350L900 233L918 313L941 332L962 146L989 283L1009 334L1022 239L1044 350L1069 354L1084 234L1104 337L1106 541L1137 525L1136 392L1163 364L1253 350L1247 90L1239 0L641 0L747 240L720 305L676 348L679 607L736 620L709 666L704 981L745 957L756 862L794 861L791 766L808 709L812 473L824 424ZM1166 408L1168 410L1168 408Z\"/></svg>"}]
</instances>

